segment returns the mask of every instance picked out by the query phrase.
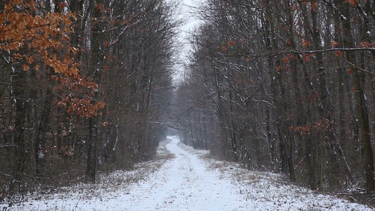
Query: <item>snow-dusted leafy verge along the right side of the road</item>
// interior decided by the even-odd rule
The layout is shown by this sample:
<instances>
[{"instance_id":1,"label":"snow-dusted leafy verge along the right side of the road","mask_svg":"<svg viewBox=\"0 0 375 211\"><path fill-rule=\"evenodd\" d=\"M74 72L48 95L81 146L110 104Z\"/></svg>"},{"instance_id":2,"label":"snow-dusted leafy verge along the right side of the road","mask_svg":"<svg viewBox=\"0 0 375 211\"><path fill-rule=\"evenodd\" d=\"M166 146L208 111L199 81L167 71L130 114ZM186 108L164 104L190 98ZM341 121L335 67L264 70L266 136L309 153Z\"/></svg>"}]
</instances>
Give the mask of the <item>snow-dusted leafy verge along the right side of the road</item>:
<instances>
[{"instance_id":1,"label":"snow-dusted leafy verge along the right side of the road","mask_svg":"<svg viewBox=\"0 0 375 211\"><path fill-rule=\"evenodd\" d=\"M186 150L189 150L189 148L186 148ZM348 203L358 203L375 208L375 194L365 193L361 188L348 188L345 191L311 191L304 184L290 181L285 175L267 171L248 170L246 165L237 162L217 160L208 151L198 153L198 155L205 160L208 170L218 171L223 179L230 179L236 184L241 184L243 194L252 194L249 188L259 185L266 187L265 190L268 193L270 190L280 193L307 193L312 194L314 197L322 198L322 200L325 199L324 196L333 196L347 200ZM294 191L291 191L292 189ZM298 196L296 197L298 198ZM290 196L284 196L284 198L290 198ZM267 195L265 193L263 199L269 202L273 201L272 194Z\"/></svg>"}]
</instances>

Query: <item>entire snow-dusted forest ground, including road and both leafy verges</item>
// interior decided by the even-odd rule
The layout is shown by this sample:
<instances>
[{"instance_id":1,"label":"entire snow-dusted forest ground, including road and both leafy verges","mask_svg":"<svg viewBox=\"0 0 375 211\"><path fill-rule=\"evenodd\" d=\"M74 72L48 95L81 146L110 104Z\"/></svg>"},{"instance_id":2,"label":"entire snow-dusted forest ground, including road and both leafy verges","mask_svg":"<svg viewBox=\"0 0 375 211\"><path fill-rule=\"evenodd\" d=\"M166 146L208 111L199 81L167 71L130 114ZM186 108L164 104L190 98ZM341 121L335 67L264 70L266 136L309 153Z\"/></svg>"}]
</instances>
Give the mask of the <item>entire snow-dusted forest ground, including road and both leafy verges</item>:
<instances>
[{"instance_id":1,"label":"entire snow-dusted forest ground, including road and both leafy verges","mask_svg":"<svg viewBox=\"0 0 375 211\"><path fill-rule=\"evenodd\" d=\"M3 207L1 207L3 206ZM131 171L103 174L95 185L29 196L2 210L373 210L314 193L279 174L254 172L208 158L175 136L160 143L158 158ZM1 209L0 209L1 210Z\"/></svg>"}]
</instances>

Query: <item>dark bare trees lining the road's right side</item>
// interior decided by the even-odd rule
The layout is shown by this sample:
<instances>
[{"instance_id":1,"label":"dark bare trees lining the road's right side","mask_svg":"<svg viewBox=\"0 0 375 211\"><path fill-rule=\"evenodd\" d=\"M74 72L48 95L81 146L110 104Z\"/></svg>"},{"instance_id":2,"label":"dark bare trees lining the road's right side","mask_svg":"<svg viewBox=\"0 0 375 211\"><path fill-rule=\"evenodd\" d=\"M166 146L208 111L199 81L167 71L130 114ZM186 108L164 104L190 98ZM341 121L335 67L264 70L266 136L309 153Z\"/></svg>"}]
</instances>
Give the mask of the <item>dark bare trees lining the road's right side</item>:
<instances>
[{"instance_id":1,"label":"dark bare trees lining the road's right side","mask_svg":"<svg viewBox=\"0 0 375 211\"><path fill-rule=\"evenodd\" d=\"M312 190L374 191L375 1L205 2L174 99L184 143Z\"/></svg>"}]
</instances>

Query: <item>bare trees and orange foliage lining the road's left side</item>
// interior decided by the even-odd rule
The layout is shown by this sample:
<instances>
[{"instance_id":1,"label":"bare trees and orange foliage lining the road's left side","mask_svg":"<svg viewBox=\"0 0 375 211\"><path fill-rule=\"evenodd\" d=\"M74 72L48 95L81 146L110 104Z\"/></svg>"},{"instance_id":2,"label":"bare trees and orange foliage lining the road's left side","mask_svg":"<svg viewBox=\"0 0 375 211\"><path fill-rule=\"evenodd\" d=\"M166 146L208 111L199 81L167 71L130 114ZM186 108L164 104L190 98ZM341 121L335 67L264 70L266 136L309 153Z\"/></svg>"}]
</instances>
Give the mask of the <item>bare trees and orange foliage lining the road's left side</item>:
<instances>
[{"instance_id":1,"label":"bare trees and orange foliage lining the road's left side","mask_svg":"<svg viewBox=\"0 0 375 211\"><path fill-rule=\"evenodd\" d=\"M0 198L153 158L172 91L172 5L0 1Z\"/></svg>"}]
</instances>

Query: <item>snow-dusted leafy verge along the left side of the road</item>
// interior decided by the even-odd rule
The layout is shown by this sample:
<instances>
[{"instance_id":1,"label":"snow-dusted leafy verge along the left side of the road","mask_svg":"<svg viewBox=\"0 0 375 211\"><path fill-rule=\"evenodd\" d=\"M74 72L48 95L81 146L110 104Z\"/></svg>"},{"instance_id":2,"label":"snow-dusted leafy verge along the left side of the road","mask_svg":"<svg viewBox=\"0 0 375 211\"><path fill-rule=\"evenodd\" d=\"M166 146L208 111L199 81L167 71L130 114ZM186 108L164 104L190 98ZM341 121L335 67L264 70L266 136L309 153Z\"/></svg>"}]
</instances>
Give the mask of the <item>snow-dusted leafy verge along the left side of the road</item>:
<instances>
[{"instance_id":1,"label":"snow-dusted leafy verge along the left side of the road","mask_svg":"<svg viewBox=\"0 0 375 211\"><path fill-rule=\"evenodd\" d=\"M110 173L98 172L96 184L80 182L72 186L43 186L35 188L34 191L28 192L27 194L16 194L12 196L12 198L4 198L0 202L0 210L11 210L13 205L31 200L51 200L55 198L64 200L68 198L79 198L77 200L78 204L82 200L102 200L104 196L106 198L115 197L118 191L126 193L131 184L138 183L142 180L146 181L150 175L157 172L167 160L174 158L174 155L166 150L165 144L165 141L160 143L158 154L153 160L136 163L131 167L127 167L126 170L116 170ZM51 210L53 210L53 208L48 211ZM63 210L63 207L58 207L58 210Z\"/></svg>"}]
</instances>

